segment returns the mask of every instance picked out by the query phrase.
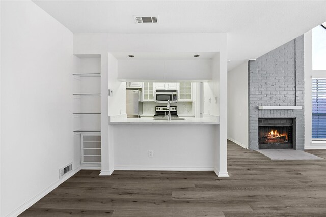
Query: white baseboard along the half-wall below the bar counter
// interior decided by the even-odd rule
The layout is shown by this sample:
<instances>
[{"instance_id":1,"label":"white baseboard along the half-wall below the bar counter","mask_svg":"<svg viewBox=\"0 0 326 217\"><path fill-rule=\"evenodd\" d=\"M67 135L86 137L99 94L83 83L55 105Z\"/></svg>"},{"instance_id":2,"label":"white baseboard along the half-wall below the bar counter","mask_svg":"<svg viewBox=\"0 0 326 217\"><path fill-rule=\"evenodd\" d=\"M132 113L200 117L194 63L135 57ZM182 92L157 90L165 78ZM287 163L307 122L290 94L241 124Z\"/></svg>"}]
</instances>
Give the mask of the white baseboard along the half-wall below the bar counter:
<instances>
[{"instance_id":1,"label":"white baseboard along the half-wall below the bar counter","mask_svg":"<svg viewBox=\"0 0 326 217\"><path fill-rule=\"evenodd\" d=\"M114 170L163 170L163 171L214 171L213 167L141 167L141 166L118 166Z\"/></svg>"}]
</instances>

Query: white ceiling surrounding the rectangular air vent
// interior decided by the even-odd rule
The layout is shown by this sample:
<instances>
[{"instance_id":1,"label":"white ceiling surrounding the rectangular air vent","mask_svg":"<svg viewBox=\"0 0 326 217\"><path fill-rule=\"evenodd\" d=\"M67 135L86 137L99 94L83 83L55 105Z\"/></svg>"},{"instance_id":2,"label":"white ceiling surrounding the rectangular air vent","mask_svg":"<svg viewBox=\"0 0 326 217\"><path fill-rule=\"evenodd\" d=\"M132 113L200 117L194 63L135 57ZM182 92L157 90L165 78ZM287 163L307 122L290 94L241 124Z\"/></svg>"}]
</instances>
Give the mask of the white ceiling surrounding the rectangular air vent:
<instances>
[{"instance_id":1,"label":"white ceiling surrounding the rectangular air vent","mask_svg":"<svg viewBox=\"0 0 326 217\"><path fill-rule=\"evenodd\" d=\"M228 33L229 69L326 21L326 1L313 0L33 2L73 33ZM136 24L133 15L159 23Z\"/></svg>"}]
</instances>

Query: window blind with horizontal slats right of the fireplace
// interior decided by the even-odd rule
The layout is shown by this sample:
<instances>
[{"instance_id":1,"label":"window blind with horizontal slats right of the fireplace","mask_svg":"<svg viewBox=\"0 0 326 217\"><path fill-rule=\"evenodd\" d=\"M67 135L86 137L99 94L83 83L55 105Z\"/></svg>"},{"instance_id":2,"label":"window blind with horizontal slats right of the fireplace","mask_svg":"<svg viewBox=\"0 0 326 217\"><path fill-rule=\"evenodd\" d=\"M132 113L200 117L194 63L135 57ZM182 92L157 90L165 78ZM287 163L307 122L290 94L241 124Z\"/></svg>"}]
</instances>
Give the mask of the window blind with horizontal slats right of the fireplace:
<instances>
[{"instance_id":1,"label":"window blind with horizontal slats right of the fireplace","mask_svg":"<svg viewBox=\"0 0 326 217\"><path fill-rule=\"evenodd\" d=\"M312 138L326 139L326 79L312 79Z\"/></svg>"}]
</instances>

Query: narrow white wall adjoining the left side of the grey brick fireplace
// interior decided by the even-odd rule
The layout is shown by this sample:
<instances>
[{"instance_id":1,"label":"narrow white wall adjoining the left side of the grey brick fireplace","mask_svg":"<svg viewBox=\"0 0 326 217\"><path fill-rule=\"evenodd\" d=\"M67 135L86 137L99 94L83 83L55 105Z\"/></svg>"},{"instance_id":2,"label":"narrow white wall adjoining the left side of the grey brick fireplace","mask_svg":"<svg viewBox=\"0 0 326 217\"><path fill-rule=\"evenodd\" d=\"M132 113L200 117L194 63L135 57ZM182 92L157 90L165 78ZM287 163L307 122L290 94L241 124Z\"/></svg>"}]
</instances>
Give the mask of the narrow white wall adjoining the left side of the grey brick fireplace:
<instances>
[{"instance_id":1,"label":"narrow white wall adjoining the left side of the grey brick fireplace","mask_svg":"<svg viewBox=\"0 0 326 217\"><path fill-rule=\"evenodd\" d=\"M228 72L228 139L248 149L248 61Z\"/></svg>"}]
</instances>

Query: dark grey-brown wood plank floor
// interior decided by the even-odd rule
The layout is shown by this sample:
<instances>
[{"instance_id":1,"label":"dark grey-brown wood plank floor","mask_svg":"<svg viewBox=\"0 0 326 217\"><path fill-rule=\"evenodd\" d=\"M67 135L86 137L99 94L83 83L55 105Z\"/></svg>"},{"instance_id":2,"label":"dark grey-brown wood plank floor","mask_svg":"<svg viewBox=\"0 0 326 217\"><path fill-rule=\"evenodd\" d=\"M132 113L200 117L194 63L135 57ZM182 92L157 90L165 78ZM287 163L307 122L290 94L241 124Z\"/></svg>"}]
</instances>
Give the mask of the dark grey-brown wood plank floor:
<instances>
[{"instance_id":1,"label":"dark grey-brown wood plank floor","mask_svg":"<svg viewBox=\"0 0 326 217\"><path fill-rule=\"evenodd\" d=\"M228 172L82 170L21 216L326 216L326 159L271 161L228 142Z\"/></svg>"}]
</instances>

